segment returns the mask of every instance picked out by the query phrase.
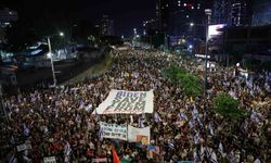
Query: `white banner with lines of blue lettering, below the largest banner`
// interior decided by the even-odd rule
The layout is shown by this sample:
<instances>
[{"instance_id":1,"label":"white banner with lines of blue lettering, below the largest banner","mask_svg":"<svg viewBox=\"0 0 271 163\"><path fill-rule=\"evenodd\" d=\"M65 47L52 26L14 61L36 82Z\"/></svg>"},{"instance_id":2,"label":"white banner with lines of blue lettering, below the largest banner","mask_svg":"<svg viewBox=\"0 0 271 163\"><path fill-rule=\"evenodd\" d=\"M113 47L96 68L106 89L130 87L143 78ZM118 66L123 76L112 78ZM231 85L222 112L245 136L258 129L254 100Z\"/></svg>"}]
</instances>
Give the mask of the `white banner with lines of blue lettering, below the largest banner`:
<instances>
[{"instance_id":1,"label":"white banner with lines of blue lettering, below the largest banner","mask_svg":"<svg viewBox=\"0 0 271 163\"><path fill-rule=\"evenodd\" d=\"M100 122L100 137L127 140L127 126Z\"/></svg>"}]
</instances>

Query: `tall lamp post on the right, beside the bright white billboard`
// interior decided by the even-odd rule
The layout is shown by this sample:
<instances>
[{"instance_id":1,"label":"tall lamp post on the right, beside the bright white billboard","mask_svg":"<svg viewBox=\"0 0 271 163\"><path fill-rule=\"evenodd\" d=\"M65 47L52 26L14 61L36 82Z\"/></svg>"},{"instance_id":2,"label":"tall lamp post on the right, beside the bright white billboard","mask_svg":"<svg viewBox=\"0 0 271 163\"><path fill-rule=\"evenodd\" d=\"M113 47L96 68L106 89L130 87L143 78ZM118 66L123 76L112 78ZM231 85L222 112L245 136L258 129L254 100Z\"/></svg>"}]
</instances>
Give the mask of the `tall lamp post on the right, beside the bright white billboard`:
<instances>
[{"instance_id":1,"label":"tall lamp post on the right, beside the bright white billboard","mask_svg":"<svg viewBox=\"0 0 271 163\"><path fill-rule=\"evenodd\" d=\"M207 55L208 55L208 25L210 24L211 10L205 9L205 14L207 15L206 21L206 42L205 42L205 79L204 79L204 97L207 96Z\"/></svg>"}]
</instances>

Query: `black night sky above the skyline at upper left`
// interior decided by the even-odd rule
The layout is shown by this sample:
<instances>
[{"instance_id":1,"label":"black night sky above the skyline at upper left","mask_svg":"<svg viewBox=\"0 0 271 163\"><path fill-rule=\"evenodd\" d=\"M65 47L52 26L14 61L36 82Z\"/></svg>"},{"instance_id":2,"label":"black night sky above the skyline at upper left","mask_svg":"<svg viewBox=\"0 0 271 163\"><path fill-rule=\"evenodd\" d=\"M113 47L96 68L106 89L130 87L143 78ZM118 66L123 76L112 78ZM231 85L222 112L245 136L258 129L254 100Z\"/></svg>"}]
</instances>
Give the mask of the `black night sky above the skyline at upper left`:
<instances>
[{"instance_id":1,"label":"black night sky above the skyline at upper left","mask_svg":"<svg viewBox=\"0 0 271 163\"><path fill-rule=\"evenodd\" d=\"M3 0L2 5L17 10L20 18L37 22L72 20L95 23L102 14L114 21L116 35L132 34L142 22L155 17L156 0ZM1 4L1 3L0 3ZM141 33L141 30L139 30Z\"/></svg>"}]
</instances>

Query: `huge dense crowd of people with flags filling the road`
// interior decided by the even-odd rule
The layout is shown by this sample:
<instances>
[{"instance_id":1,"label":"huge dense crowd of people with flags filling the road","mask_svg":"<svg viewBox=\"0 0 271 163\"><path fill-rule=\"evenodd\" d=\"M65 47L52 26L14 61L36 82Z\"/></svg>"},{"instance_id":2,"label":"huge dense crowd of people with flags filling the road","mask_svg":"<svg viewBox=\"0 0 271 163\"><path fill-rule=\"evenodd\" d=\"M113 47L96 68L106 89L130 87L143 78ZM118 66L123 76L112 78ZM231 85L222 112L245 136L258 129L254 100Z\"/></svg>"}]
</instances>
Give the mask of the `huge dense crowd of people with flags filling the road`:
<instances>
[{"instance_id":1,"label":"huge dense crowd of people with flags filling the road","mask_svg":"<svg viewBox=\"0 0 271 163\"><path fill-rule=\"evenodd\" d=\"M4 97L9 122L1 124L1 151L11 151L17 162L35 163L47 156L67 163L92 162L96 158L113 162L113 148L127 162L271 160L271 97L266 89L270 86L269 73L246 79L238 77L234 68L217 66L216 72L208 73L207 98L192 99L164 78L162 71L178 63L204 78L202 61L145 50L113 54L112 68L94 78ZM144 126L151 126L151 145L159 148L158 153L151 155L146 147L136 142L99 137L99 122L139 126L130 115L91 114L111 89L154 89L154 113L132 115L132 120L140 118ZM230 122L216 114L212 98L219 91L237 99L248 115ZM20 151L20 145L30 148Z\"/></svg>"}]
</instances>

